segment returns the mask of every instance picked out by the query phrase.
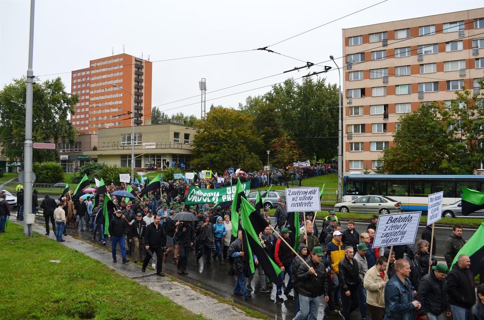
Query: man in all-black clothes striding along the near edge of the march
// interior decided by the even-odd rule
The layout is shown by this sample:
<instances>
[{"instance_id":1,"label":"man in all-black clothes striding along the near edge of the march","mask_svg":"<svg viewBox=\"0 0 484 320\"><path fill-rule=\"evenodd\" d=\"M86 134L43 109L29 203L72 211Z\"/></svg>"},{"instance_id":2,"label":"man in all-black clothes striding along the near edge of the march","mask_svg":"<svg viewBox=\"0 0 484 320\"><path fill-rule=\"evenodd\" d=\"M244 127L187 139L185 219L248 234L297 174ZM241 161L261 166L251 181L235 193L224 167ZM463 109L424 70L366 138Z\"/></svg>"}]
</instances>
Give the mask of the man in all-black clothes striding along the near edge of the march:
<instances>
[{"instance_id":1,"label":"man in all-black clothes striding along the near edge of the march","mask_svg":"<svg viewBox=\"0 0 484 320\"><path fill-rule=\"evenodd\" d=\"M165 230L160 224L161 216L154 216L154 221L146 227L145 231L145 249L150 250L151 254L156 253L156 274L159 276L165 276L161 272L161 267L163 266L163 251L165 248L166 237ZM142 272L146 271L146 266L148 265L151 255L145 255L145 260L143 261Z\"/></svg>"}]
</instances>

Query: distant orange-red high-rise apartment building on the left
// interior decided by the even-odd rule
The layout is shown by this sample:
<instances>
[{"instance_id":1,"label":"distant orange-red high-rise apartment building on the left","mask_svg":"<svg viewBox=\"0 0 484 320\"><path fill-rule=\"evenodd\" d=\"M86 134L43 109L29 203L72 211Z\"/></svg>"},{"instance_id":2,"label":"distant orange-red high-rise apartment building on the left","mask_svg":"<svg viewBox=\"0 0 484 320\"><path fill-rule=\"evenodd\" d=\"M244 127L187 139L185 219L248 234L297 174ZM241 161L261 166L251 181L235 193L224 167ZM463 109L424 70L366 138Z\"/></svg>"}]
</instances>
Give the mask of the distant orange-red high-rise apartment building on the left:
<instances>
[{"instance_id":1,"label":"distant orange-red high-rise apartment building on the left","mask_svg":"<svg viewBox=\"0 0 484 320\"><path fill-rule=\"evenodd\" d=\"M151 118L150 61L123 53L91 60L89 65L72 71L71 93L80 97L71 115L74 128L97 134L99 128L131 126L133 117L136 125Z\"/></svg>"}]
</instances>

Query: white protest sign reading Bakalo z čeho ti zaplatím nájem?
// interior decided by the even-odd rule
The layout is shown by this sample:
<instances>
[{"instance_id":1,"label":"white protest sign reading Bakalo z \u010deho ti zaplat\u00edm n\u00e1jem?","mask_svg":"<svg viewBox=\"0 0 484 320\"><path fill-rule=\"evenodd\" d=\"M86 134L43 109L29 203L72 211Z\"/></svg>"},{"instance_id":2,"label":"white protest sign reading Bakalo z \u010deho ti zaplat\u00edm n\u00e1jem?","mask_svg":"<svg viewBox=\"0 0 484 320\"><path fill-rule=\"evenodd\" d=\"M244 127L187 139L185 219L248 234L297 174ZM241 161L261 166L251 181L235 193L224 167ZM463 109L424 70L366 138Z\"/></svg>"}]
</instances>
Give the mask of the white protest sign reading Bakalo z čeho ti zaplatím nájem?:
<instances>
[{"instance_id":1,"label":"white protest sign reading Bakalo z \u010deho ti zaplat\u00edm n\u00e1jem?","mask_svg":"<svg viewBox=\"0 0 484 320\"><path fill-rule=\"evenodd\" d=\"M421 215L422 211L380 215L373 247L413 244Z\"/></svg>"}]
</instances>

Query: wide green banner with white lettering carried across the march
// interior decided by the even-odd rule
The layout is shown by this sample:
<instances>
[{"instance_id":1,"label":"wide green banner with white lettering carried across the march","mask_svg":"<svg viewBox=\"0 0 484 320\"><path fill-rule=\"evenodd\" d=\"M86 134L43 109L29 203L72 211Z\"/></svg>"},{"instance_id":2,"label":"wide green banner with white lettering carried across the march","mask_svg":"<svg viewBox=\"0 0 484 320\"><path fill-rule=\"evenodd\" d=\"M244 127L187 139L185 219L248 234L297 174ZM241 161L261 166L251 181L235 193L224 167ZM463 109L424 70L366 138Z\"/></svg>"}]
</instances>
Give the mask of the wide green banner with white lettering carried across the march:
<instances>
[{"instance_id":1,"label":"wide green banner with white lettering carried across the march","mask_svg":"<svg viewBox=\"0 0 484 320\"><path fill-rule=\"evenodd\" d=\"M250 192L250 181L242 183L242 190L248 196ZM199 189L190 186L185 205L198 203L222 203L232 201L236 192L236 185L224 186L215 189Z\"/></svg>"}]
</instances>

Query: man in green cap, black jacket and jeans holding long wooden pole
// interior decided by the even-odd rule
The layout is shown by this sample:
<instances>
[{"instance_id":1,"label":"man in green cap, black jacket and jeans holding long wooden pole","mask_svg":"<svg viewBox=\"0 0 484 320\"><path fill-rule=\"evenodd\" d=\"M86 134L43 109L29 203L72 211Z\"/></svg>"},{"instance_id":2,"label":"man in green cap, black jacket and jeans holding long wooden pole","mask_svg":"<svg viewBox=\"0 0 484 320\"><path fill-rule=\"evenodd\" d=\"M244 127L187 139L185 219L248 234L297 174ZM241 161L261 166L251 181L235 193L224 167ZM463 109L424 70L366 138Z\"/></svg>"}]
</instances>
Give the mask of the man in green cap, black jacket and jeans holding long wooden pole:
<instances>
[{"instance_id":1,"label":"man in green cap, black jacket and jeans holding long wooden pole","mask_svg":"<svg viewBox=\"0 0 484 320\"><path fill-rule=\"evenodd\" d=\"M323 249L320 246L314 247L311 258L307 260L309 268L306 264L301 263L297 270L300 310L293 320L317 319L319 297L324 296L324 300L329 301L328 277L325 276L326 270L324 263L321 262L322 256Z\"/></svg>"}]
</instances>

